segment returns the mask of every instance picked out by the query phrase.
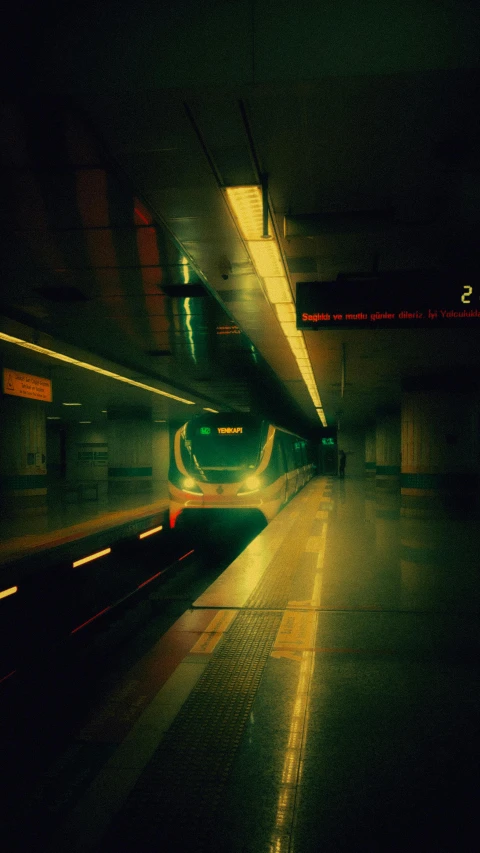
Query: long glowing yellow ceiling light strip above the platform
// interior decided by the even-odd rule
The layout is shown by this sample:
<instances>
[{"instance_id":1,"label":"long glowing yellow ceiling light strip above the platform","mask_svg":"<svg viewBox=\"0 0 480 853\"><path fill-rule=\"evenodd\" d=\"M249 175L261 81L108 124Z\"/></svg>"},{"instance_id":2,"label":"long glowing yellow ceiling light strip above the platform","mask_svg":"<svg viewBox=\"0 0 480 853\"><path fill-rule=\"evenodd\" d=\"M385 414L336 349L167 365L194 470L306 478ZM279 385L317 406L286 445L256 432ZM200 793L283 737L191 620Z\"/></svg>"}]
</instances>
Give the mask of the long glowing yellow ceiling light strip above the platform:
<instances>
[{"instance_id":1,"label":"long glowing yellow ceiling light strip above the platform","mask_svg":"<svg viewBox=\"0 0 480 853\"><path fill-rule=\"evenodd\" d=\"M280 326L290 344L318 417L323 426L326 427L327 420L305 346L305 338L303 332L297 329L295 303L280 249L274 237L262 238L260 236L263 233L261 187L226 187L225 192L240 233L247 244L257 275L263 279L267 296L272 305L275 306ZM271 224L270 217L269 221ZM273 228L271 228L270 233L272 231Z\"/></svg>"}]
</instances>

